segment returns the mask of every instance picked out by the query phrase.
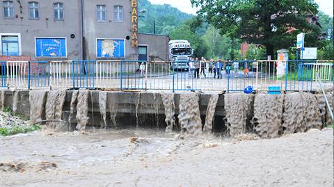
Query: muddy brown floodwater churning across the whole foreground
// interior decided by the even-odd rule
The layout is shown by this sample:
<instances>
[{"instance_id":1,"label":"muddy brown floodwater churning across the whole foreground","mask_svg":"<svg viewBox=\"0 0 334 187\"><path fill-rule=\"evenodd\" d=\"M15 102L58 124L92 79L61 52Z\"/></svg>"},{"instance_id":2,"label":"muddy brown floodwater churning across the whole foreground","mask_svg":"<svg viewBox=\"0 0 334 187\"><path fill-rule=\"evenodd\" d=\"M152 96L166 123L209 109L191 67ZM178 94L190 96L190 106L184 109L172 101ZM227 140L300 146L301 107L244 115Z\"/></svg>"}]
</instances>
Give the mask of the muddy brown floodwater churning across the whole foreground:
<instances>
[{"instance_id":1,"label":"muddy brown floodwater churning across the whole foreground","mask_svg":"<svg viewBox=\"0 0 334 187\"><path fill-rule=\"evenodd\" d=\"M333 129L262 140L44 130L0 137L0 176L0 186L333 186Z\"/></svg>"}]
</instances>

